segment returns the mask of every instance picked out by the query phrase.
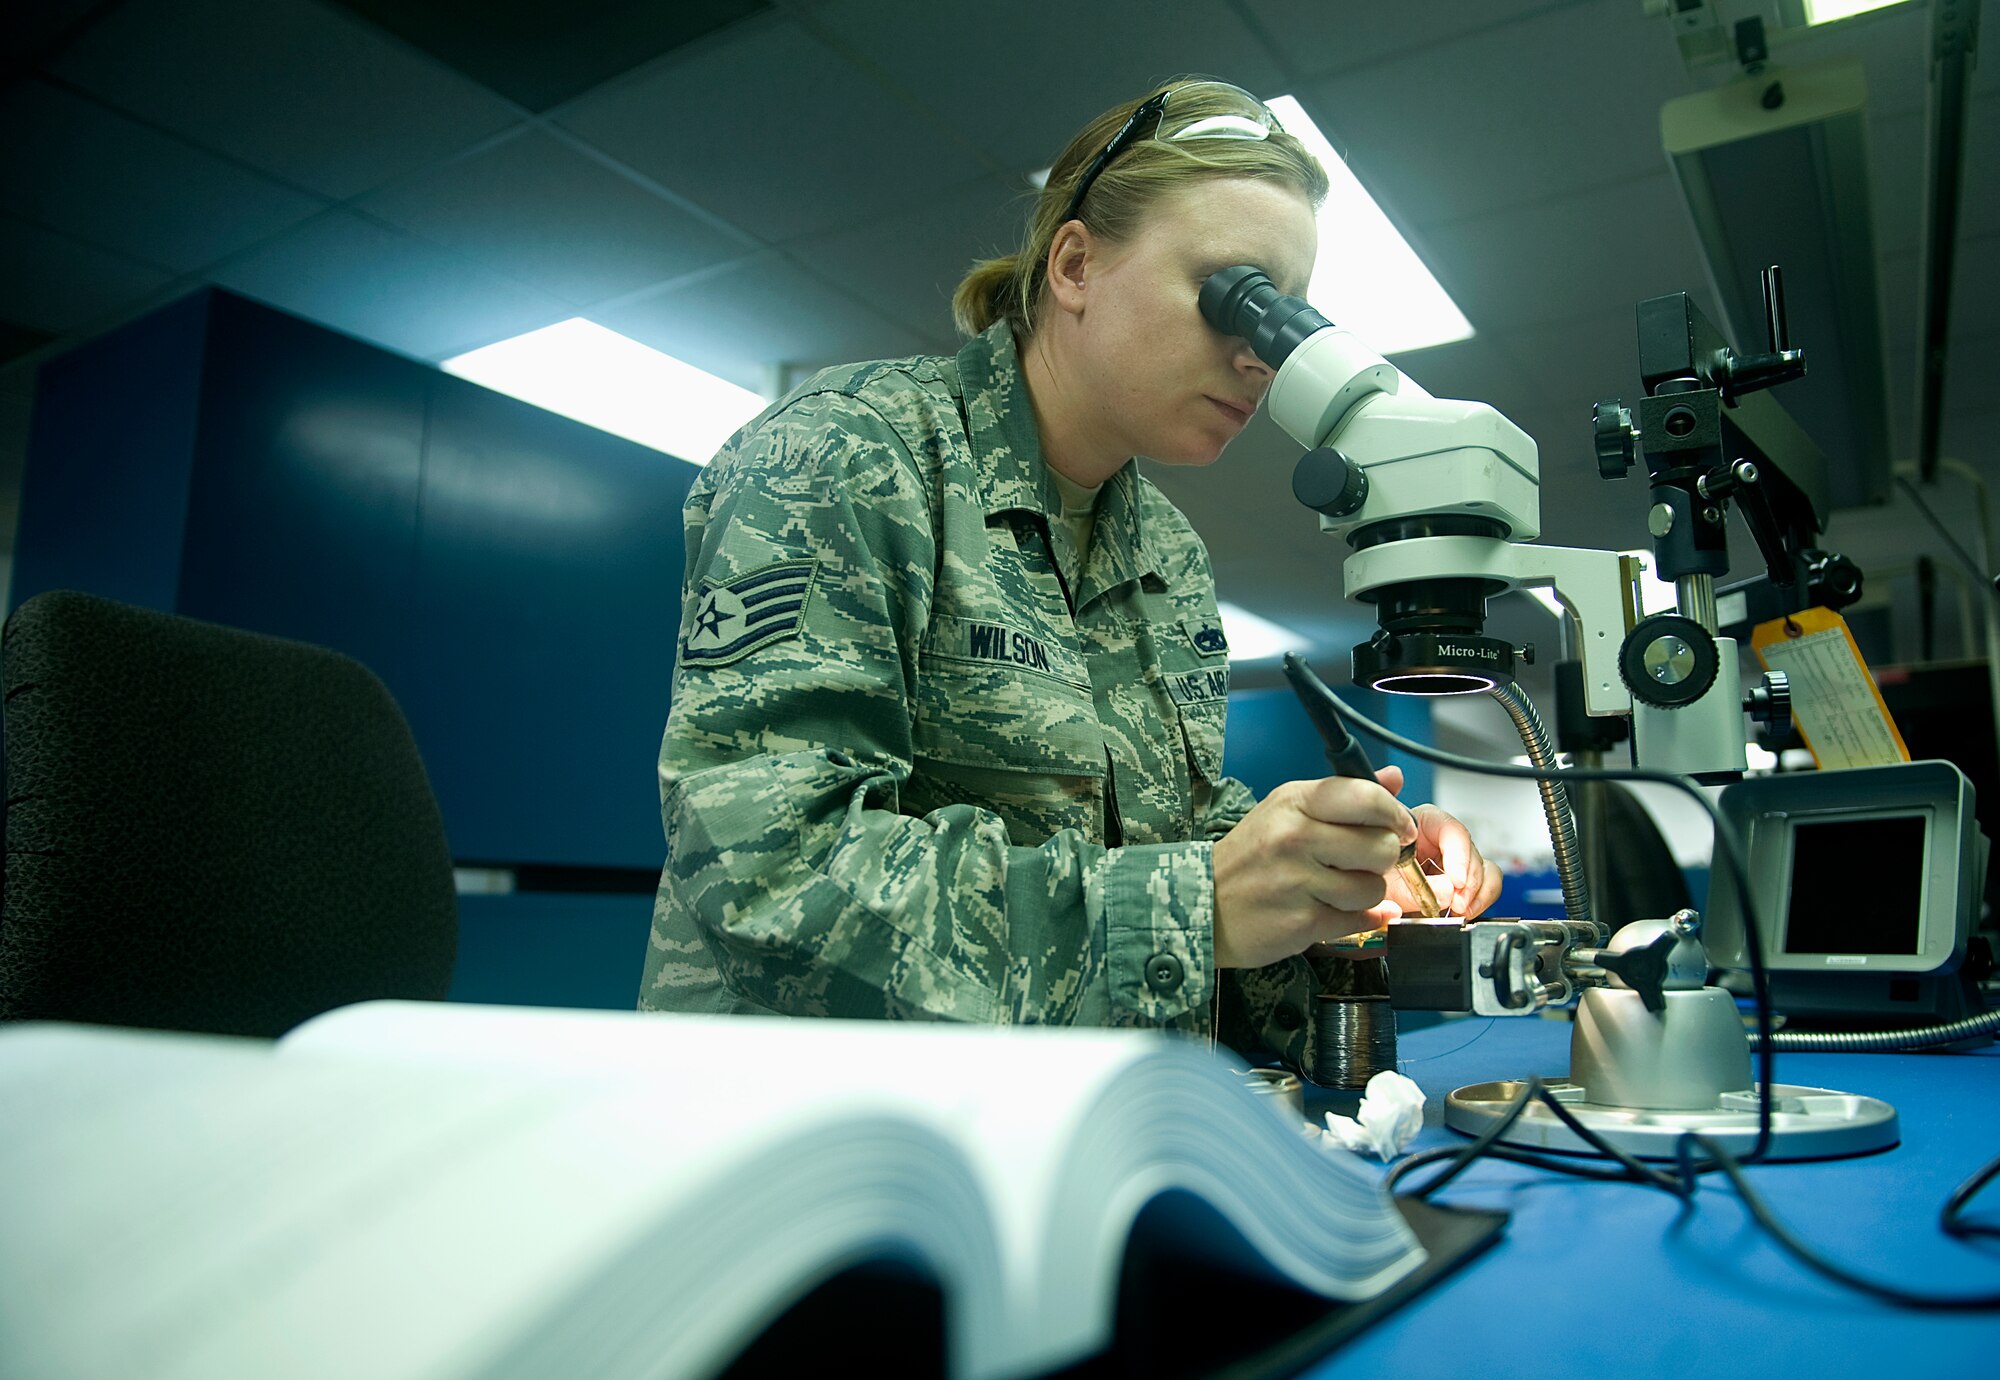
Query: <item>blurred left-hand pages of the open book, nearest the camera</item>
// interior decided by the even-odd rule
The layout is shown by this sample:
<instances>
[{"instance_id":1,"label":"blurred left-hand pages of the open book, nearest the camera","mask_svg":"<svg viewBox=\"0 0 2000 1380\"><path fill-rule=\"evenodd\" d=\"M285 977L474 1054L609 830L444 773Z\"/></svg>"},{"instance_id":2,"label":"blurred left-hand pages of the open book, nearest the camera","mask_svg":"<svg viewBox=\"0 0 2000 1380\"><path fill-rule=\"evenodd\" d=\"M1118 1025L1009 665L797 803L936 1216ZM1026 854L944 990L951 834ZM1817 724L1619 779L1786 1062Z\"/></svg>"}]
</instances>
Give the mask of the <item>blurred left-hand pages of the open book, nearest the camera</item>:
<instances>
[{"instance_id":1,"label":"blurred left-hand pages of the open book, nearest the camera","mask_svg":"<svg viewBox=\"0 0 2000 1380\"><path fill-rule=\"evenodd\" d=\"M944 1140L850 1104L800 1156L762 1096L720 1082L686 1104L262 1042L0 1032L0 1374L656 1376L662 1356L706 1374L884 1240L970 1300L998 1294Z\"/></svg>"}]
</instances>

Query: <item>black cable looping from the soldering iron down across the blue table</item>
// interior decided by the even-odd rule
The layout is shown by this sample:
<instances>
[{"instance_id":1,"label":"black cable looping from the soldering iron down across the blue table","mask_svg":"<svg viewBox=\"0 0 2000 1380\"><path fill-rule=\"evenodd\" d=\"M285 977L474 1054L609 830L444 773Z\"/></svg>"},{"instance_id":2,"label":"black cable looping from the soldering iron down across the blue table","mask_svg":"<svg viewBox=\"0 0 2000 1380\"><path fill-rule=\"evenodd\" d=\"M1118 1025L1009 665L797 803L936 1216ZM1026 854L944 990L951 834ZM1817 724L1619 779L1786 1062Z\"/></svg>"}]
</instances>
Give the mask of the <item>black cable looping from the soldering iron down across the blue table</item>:
<instances>
[{"instance_id":1,"label":"black cable looping from the soldering iron down across the blue table","mask_svg":"<svg viewBox=\"0 0 2000 1380\"><path fill-rule=\"evenodd\" d=\"M1730 826L1730 822L1722 816L1722 810L1716 806L1716 802L1704 796L1702 790L1692 780L1676 776L1672 772L1648 772L1642 768L1538 768L1538 766L1482 762L1478 758L1460 756L1456 752L1446 752L1444 748L1432 748L1430 744L1404 738L1402 734L1384 728L1382 724L1376 724L1366 714L1362 714L1352 704L1348 704L1346 700L1342 700L1332 692L1328 692L1328 700L1332 702L1336 714L1340 714L1344 720L1348 720L1354 728L1362 730L1370 738L1376 738L1392 748L1400 748L1402 752L1408 752L1426 762L1436 762L1438 766L1456 766L1466 772L1478 772L1484 776L1502 776L1514 780L1544 780L1544 778L1554 780L1558 776L1562 780L1650 780L1650 782L1664 782L1668 786L1674 786L1676 790L1694 796L1694 800L1698 800L1702 808L1708 812L1708 818L1716 828L1716 844L1724 860L1728 862L1730 882L1734 884L1736 900L1742 906L1744 948L1750 958L1750 982L1756 994L1760 1088L1758 1088L1758 1134L1756 1142L1752 1142L1750 1154L1736 1158L1708 1136L1702 1136L1700 1132L1684 1132L1674 1146L1680 1168L1678 1178L1662 1174L1660 1170L1642 1164L1634 1156L1626 1154L1624 1150L1618 1150L1616 1146L1612 1146L1610 1142L1602 1140L1598 1134L1588 1130L1580 1120L1576 1120L1576 1116L1568 1108L1562 1106L1560 1098L1556 1098L1554 1094L1548 1092L1548 1088L1542 1086L1540 1078L1530 1078L1522 1086L1522 1090L1514 1096L1514 1100L1508 1104L1506 1112L1494 1126L1488 1126L1484 1132L1480 1132L1480 1136L1472 1140L1468 1146L1454 1150L1426 1150L1422 1154L1410 1156L1390 1172L1388 1176L1390 1188L1394 1188L1394 1184L1398 1184L1408 1172L1424 1164L1450 1160L1450 1166L1446 1170L1442 1170L1432 1180L1412 1190L1414 1196L1424 1198L1442 1188L1444 1184L1448 1184L1452 1178L1456 1178L1476 1158L1492 1158L1492 1160L1506 1160L1512 1164L1528 1164L1532 1168L1568 1174L1572 1178L1646 1184L1650 1188L1660 1188L1688 1202L1694 1198L1694 1188L1702 1174L1722 1172L1736 1188L1736 1194L1742 1198L1744 1206L1750 1210L1752 1220L1760 1228L1764 1228L1764 1232L1768 1232L1770 1238L1786 1254L1790 1254L1794 1260L1798 1260L1814 1274L1820 1274L1836 1284L1852 1288L1870 1298L1894 1304L1898 1308L1916 1308L1926 1312L2000 1310L2000 1294L1960 1294L1960 1296L1916 1294L1910 1290L1896 1288L1892 1284L1880 1284L1876 1280L1868 1280L1842 1266L1836 1266L1834 1262L1814 1254L1804 1242L1792 1236L1790 1230L1786 1230L1786 1226L1778 1222L1776 1216L1772 1216L1770 1208L1764 1204L1762 1198L1756 1196L1756 1192L1750 1188L1750 1182L1744 1178L1742 1166L1752 1164L1754 1160L1762 1158L1764 1152L1770 1150L1770 1116L1772 1116L1772 1086L1774 1086L1774 1056L1770 1040L1772 1036L1770 978L1764 968L1764 940L1762 934L1758 932L1756 900L1750 896L1750 884L1748 884L1750 874L1744 868L1742 840L1736 836L1736 830ZM1504 1148L1496 1144L1498 1138L1516 1120L1520 1120L1520 1116L1528 1110L1528 1104L1532 1100L1540 1100L1544 1106L1548 1106L1548 1110L1554 1112L1556 1118L1564 1126L1568 1126L1578 1138L1582 1138L1584 1144L1592 1146L1600 1154L1614 1158L1620 1164L1620 1168L1600 1170L1596 1166L1564 1164L1558 1160L1550 1160L1546 1156L1536 1156L1530 1152ZM1696 1148L1700 1148L1708 1158L1696 1162L1694 1158ZM2000 1158L1988 1162L1984 1168L1980 1168L1980 1172L1976 1172L1972 1178L1968 1178L1964 1184L1958 1186L1958 1190L1946 1202L1942 1212L1946 1232L1950 1232L1952 1236L2000 1234L2000 1230L1966 1224L1958 1220L1958 1214L1964 1208L1964 1204L1970 1202L1972 1196L1978 1194L1996 1174L2000 1174Z\"/></svg>"}]
</instances>

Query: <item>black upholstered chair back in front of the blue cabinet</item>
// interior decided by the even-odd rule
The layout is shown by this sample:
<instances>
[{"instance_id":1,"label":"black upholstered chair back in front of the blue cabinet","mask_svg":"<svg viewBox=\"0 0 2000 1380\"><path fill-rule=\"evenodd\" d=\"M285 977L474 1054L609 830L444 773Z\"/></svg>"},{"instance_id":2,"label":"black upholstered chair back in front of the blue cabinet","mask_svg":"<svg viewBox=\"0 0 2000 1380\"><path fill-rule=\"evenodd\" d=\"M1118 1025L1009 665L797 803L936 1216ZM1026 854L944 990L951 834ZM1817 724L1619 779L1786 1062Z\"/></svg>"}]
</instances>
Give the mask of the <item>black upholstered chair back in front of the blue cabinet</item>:
<instances>
[{"instance_id":1,"label":"black upholstered chair back in front of the blue cabinet","mask_svg":"<svg viewBox=\"0 0 2000 1380\"><path fill-rule=\"evenodd\" d=\"M0 686L0 1020L276 1036L444 996L444 824L360 662L56 590L8 618Z\"/></svg>"}]
</instances>

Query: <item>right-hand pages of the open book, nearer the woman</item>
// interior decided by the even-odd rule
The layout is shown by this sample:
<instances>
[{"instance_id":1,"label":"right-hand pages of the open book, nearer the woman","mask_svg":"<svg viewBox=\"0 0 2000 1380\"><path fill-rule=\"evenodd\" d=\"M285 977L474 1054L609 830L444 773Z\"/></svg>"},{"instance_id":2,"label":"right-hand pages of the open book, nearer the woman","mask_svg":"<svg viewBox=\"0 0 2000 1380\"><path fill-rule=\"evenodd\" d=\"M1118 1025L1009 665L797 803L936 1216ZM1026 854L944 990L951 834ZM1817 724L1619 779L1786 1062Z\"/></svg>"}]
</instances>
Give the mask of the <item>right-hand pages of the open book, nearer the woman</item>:
<instances>
[{"instance_id":1,"label":"right-hand pages of the open book, nearer the woman","mask_svg":"<svg viewBox=\"0 0 2000 1380\"><path fill-rule=\"evenodd\" d=\"M970 1376L1108 1344L1132 1222L1176 1188L1212 1202L1274 1274L1328 1298L1372 1296L1422 1262L1372 1170L1308 1144L1220 1058L1162 1032L370 1002L284 1044L638 1076L662 1098L728 1070L802 1126L854 1098L926 1120L974 1166L1006 1272L1004 1320L970 1338Z\"/></svg>"}]
</instances>

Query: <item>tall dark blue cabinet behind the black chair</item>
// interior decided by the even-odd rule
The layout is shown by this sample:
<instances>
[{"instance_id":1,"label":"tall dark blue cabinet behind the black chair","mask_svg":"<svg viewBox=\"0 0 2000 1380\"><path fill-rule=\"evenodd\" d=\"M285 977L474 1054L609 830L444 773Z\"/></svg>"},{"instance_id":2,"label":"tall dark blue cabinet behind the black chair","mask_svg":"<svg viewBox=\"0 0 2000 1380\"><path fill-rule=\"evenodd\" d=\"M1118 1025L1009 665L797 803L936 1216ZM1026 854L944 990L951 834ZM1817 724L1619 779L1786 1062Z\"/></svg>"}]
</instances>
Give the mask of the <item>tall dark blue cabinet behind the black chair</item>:
<instances>
[{"instance_id":1,"label":"tall dark blue cabinet behind the black chair","mask_svg":"<svg viewBox=\"0 0 2000 1380\"><path fill-rule=\"evenodd\" d=\"M694 472L208 290L44 368L12 598L332 646L402 704L454 856L656 870Z\"/></svg>"}]
</instances>

